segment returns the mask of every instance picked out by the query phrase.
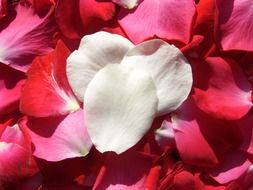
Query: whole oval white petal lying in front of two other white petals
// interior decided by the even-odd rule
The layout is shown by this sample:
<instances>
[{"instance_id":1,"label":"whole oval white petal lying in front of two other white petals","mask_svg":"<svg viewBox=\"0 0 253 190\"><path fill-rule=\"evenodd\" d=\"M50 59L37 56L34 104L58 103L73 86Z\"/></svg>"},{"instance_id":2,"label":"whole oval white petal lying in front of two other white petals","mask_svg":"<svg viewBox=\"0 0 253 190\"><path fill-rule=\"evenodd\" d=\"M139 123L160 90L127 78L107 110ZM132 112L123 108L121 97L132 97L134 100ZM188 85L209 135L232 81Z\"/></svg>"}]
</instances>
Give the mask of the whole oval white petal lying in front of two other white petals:
<instances>
[{"instance_id":1,"label":"whole oval white petal lying in front of two other white petals","mask_svg":"<svg viewBox=\"0 0 253 190\"><path fill-rule=\"evenodd\" d=\"M157 103L148 73L120 64L101 69L84 96L86 126L95 147L120 154L135 145L150 128Z\"/></svg>"}]
</instances>

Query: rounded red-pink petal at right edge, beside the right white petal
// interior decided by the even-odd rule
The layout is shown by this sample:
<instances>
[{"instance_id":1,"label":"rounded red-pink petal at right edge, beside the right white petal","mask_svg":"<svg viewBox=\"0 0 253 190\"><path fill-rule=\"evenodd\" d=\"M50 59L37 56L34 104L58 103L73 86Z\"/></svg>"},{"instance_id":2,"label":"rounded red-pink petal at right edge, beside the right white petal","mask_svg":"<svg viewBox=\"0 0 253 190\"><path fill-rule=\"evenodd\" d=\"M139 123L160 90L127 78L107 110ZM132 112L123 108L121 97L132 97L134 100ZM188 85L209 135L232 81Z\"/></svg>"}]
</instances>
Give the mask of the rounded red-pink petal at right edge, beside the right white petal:
<instances>
[{"instance_id":1,"label":"rounded red-pink petal at right edge, beside the right white petal","mask_svg":"<svg viewBox=\"0 0 253 190\"><path fill-rule=\"evenodd\" d=\"M198 107L216 118L240 119L253 105L249 81L232 60L210 57L206 62L203 64L208 71L205 75L209 76L207 87L195 88L194 99ZM203 75L200 72L196 71L196 77Z\"/></svg>"}]
</instances>

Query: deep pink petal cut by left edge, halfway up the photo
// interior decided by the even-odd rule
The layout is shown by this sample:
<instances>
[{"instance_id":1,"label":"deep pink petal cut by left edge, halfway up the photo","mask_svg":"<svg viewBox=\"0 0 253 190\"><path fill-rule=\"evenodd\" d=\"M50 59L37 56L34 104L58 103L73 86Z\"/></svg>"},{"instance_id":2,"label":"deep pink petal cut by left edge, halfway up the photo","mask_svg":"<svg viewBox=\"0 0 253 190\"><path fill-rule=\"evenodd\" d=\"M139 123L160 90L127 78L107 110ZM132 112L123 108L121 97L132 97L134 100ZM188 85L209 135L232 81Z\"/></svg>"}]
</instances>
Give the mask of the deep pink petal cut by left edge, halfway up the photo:
<instances>
[{"instance_id":1,"label":"deep pink petal cut by left edge, halfway up the photo","mask_svg":"<svg viewBox=\"0 0 253 190\"><path fill-rule=\"evenodd\" d=\"M7 114L18 108L25 75L0 64L0 114Z\"/></svg>"}]
</instances>

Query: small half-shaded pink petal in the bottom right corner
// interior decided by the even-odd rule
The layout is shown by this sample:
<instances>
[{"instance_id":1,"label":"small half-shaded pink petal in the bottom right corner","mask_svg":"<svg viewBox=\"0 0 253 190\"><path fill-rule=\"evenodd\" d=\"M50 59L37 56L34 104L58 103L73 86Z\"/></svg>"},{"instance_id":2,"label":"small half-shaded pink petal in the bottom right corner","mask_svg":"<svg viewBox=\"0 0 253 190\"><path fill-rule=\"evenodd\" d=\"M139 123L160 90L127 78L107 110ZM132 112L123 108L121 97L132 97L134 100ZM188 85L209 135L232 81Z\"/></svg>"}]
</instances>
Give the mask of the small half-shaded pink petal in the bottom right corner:
<instances>
[{"instance_id":1,"label":"small half-shaded pink petal in the bottom right corner","mask_svg":"<svg viewBox=\"0 0 253 190\"><path fill-rule=\"evenodd\" d=\"M219 167L211 170L211 176L217 182L225 184L238 179L251 165L252 163L247 159L246 154L234 151L227 154Z\"/></svg>"}]
</instances>

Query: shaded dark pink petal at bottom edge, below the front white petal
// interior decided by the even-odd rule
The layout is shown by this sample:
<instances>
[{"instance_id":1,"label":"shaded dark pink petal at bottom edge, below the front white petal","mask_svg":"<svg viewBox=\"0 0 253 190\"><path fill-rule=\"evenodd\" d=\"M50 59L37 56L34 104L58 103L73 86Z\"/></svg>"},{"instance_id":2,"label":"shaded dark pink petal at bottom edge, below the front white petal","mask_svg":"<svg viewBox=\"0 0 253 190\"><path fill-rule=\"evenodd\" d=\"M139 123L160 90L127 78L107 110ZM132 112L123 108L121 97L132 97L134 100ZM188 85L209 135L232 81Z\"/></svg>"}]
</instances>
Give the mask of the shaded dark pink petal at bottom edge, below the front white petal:
<instances>
[{"instance_id":1,"label":"shaded dark pink petal at bottom edge, below the front white petal","mask_svg":"<svg viewBox=\"0 0 253 190\"><path fill-rule=\"evenodd\" d=\"M108 155L97 177L94 190L146 189L146 180L153 158L135 152Z\"/></svg>"}]
</instances>

